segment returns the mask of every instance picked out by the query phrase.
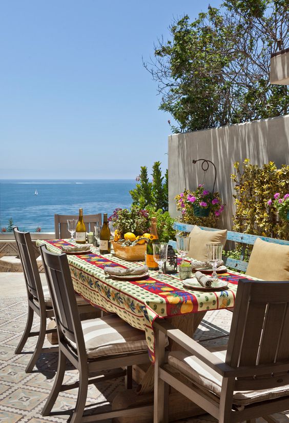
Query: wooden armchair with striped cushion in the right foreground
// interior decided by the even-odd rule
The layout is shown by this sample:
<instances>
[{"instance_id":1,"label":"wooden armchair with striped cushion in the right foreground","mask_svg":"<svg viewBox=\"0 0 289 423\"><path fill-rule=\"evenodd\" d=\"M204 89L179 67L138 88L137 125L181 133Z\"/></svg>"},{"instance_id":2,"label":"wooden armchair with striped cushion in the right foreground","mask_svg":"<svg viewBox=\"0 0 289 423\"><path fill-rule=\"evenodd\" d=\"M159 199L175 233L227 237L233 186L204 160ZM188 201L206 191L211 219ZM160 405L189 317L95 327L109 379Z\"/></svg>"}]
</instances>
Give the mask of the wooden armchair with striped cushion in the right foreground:
<instances>
[{"instance_id":1,"label":"wooden armchair with striped cushion in the right foreground","mask_svg":"<svg viewBox=\"0 0 289 423\"><path fill-rule=\"evenodd\" d=\"M272 423L270 414L289 409L289 281L239 281L224 351L205 349L166 320L155 330L154 423L168 421L169 386L220 423L260 416ZM166 335L180 346L168 364Z\"/></svg>"}]
</instances>

